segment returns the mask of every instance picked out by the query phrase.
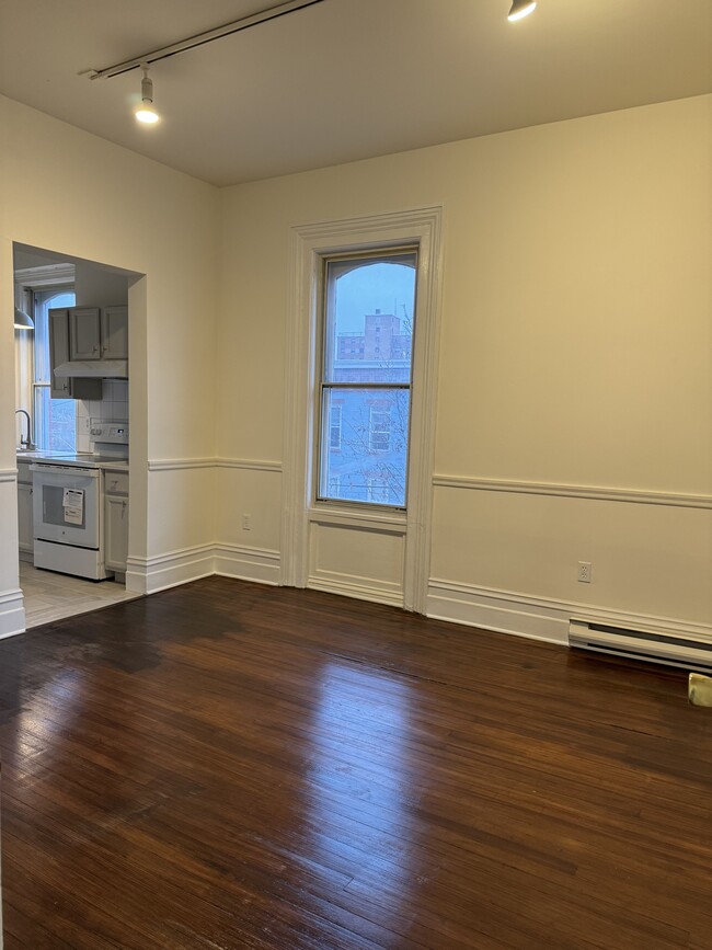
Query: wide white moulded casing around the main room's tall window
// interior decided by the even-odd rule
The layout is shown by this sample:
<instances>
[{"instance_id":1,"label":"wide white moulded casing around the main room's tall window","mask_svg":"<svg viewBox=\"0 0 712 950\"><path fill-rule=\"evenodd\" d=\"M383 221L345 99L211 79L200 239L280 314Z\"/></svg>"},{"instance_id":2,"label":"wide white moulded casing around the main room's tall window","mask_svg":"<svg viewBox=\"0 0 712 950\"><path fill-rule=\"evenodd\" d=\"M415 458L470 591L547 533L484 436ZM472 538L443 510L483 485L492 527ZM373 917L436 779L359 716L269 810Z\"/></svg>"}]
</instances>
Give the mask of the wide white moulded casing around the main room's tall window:
<instances>
[{"instance_id":1,"label":"wide white moulded casing around the main room's tall window","mask_svg":"<svg viewBox=\"0 0 712 950\"><path fill-rule=\"evenodd\" d=\"M425 207L372 217L298 225L291 229L290 313L287 322L284 413L283 584L305 587L309 571L309 524L324 512L311 502L313 479L314 367L318 358L318 295L321 259L359 251L418 244L417 330L413 351L411 445L405 517L369 518L384 530L403 525L403 606L424 613L429 573L435 456L435 394L441 281L443 208ZM333 507L330 519L354 520Z\"/></svg>"}]
</instances>

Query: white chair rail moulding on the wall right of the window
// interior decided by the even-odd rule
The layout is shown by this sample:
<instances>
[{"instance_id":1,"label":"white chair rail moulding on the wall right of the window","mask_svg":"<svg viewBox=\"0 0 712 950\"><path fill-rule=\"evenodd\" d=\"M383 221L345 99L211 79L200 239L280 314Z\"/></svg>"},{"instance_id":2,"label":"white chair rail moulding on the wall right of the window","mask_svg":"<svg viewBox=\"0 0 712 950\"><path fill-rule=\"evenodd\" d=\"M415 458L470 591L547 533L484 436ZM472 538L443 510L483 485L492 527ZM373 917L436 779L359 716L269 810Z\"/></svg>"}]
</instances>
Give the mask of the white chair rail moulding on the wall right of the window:
<instances>
[{"instance_id":1,"label":"white chair rail moulding on the wall right of the window","mask_svg":"<svg viewBox=\"0 0 712 950\"><path fill-rule=\"evenodd\" d=\"M615 489L596 485L556 484L554 482L508 481L436 474L435 488L463 489L482 492L513 492L527 495L549 495L567 499L593 499L604 502L628 502L639 505L669 505L685 508L712 508L712 495L688 495L679 492L651 492L639 489Z\"/></svg>"}]
</instances>

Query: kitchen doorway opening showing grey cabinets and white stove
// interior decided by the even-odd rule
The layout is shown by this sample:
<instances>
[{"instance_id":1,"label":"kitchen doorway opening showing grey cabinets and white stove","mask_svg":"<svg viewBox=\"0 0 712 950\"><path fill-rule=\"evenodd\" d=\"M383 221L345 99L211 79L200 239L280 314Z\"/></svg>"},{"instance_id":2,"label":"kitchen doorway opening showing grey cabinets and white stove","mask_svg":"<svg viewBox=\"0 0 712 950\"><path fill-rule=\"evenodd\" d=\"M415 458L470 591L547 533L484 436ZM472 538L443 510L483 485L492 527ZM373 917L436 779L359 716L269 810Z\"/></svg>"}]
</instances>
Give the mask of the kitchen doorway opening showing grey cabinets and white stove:
<instances>
[{"instance_id":1,"label":"kitchen doorway opening showing grey cabinets and white stove","mask_svg":"<svg viewBox=\"0 0 712 950\"><path fill-rule=\"evenodd\" d=\"M13 250L15 308L30 318L28 327L15 329L19 582L25 628L30 629L140 596L139 592L127 592L125 585L129 515L128 287L136 275L26 245L14 245ZM15 328L18 322L15 319ZM73 352L85 344L94 329L96 351ZM80 366L72 363L77 355L89 358ZM64 367L66 375L56 373L58 367ZM117 428L119 436L110 436L107 426ZM123 433L125 444L117 445ZM100 443L100 438L108 442ZM113 453L110 469L100 456L102 446ZM57 470L78 466L72 470L94 471L100 485L99 501L94 499L95 516L101 522L94 559L101 570L91 574L81 566L76 570L78 563L87 562L77 556L87 551L71 542L36 540L35 526L43 520L43 508L42 501L37 508L35 497L41 483L35 485L33 480L41 477L39 469L45 466L50 467L48 470L53 466ZM90 497L79 491L67 492L60 499L60 514L69 525L67 535L77 534L74 526L83 526L89 518L85 506ZM37 543L45 548L49 545L54 554L48 570L35 563ZM46 561L46 552L44 557ZM39 564L48 566L42 561Z\"/></svg>"}]
</instances>

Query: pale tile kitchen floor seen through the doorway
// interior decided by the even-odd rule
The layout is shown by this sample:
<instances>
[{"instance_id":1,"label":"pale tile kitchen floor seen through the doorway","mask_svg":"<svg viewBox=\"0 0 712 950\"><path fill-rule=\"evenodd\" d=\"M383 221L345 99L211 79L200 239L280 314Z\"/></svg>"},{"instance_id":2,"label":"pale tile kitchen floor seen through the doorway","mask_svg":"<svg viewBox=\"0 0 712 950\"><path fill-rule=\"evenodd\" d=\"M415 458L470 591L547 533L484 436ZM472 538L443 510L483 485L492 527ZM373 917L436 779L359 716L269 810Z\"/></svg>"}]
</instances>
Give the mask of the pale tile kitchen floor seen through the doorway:
<instances>
[{"instance_id":1,"label":"pale tile kitchen floor seen through the doorway","mask_svg":"<svg viewBox=\"0 0 712 950\"><path fill-rule=\"evenodd\" d=\"M27 629L140 596L115 581L84 581L41 571L27 561L20 561L20 586L25 598Z\"/></svg>"}]
</instances>

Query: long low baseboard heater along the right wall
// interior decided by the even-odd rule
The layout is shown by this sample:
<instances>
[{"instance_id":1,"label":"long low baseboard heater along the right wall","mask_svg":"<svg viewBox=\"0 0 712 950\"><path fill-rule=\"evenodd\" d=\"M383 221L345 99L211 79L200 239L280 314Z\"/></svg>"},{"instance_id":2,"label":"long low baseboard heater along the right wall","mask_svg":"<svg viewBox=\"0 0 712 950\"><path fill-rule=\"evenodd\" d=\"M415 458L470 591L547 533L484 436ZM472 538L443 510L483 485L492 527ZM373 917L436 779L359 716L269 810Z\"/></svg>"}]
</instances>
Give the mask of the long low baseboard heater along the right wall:
<instances>
[{"instance_id":1,"label":"long low baseboard heater along the right wall","mask_svg":"<svg viewBox=\"0 0 712 950\"><path fill-rule=\"evenodd\" d=\"M630 630L572 618L569 621L569 645L629 660L665 663L682 669L712 672L712 643L685 633Z\"/></svg>"}]
</instances>

